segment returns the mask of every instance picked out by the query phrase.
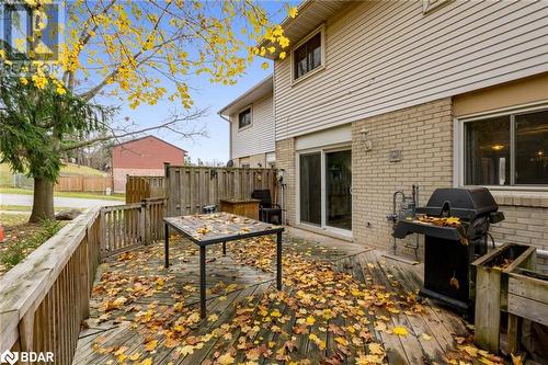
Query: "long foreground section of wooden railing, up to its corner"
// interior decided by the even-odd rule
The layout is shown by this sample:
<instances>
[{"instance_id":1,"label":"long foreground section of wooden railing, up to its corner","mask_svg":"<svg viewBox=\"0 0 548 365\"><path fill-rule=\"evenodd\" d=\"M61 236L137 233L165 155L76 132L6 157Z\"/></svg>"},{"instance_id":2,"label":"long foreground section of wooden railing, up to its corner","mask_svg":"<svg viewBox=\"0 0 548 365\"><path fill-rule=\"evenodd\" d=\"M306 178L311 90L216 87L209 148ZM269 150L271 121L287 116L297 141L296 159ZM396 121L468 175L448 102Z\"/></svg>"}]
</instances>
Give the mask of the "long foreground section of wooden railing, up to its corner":
<instances>
[{"instance_id":1,"label":"long foreground section of wooden railing, up to its corner","mask_svg":"<svg viewBox=\"0 0 548 365\"><path fill-rule=\"evenodd\" d=\"M0 278L0 353L53 352L70 364L100 263L100 215L65 226Z\"/></svg>"}]
</instances>

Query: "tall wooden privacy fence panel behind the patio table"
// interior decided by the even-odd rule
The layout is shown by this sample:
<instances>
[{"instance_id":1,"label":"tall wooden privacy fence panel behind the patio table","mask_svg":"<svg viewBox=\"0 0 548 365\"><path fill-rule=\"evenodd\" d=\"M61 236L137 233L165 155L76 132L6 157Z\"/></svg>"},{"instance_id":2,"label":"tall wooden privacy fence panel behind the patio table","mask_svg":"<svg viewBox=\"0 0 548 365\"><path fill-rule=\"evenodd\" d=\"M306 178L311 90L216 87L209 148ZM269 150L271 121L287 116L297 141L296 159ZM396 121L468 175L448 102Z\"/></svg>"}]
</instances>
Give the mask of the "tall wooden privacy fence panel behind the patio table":
<instances>
[{"instance_id":1,"label":"tall wooden privacy fence panel behind the patio table","mask_svg":"<svg viewBox=\"0 0 548 365\"><path fill-rule=\"evenodd\" d=\"M276 202L276 170L165 164L170 217L202 213L204 205L219 204L222 198L249 198L255 189L270 189Z\"/></svg>"}]
</instances>

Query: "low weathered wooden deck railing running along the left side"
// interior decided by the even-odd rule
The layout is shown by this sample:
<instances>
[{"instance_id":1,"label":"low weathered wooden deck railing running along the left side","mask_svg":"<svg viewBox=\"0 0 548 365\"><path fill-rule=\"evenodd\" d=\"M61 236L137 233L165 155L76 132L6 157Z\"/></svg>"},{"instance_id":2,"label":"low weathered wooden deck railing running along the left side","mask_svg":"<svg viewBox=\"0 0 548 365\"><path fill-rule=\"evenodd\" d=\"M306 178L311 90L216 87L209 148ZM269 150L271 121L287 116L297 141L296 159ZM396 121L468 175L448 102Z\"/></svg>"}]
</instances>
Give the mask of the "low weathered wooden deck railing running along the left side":
<instances>
[{"instance_id":1,"label":"low weathered wooden deck railing running along the left side","mask_svg":"<svg viewBox=\"0 0 548 365\"><path fill-rule=\"evenodd\" d=\"M162 239L164 209L164 198L92 208L0 277L0 354L71 364L101 260Z\"/></svg>"}]
</instances>

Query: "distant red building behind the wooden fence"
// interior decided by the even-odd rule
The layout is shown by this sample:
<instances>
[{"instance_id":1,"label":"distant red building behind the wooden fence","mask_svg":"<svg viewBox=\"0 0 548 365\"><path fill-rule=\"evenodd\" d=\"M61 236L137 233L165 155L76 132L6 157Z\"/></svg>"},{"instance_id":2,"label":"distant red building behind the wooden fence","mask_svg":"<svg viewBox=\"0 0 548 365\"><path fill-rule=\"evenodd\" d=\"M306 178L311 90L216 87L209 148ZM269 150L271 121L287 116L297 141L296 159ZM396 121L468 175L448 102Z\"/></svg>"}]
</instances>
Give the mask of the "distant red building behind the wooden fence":
<instances>
[{"instance_id":1,"label":"distant red building behind the wooden fence","mask_svg":"<svg viewBox=\"0 0 548 365\"><path fill-rule=\"evenodd\" d=\"M146 136L116 145L112 149L114 192L126 191L126 176L163 175L163 162L184 164L186 151L155 136Z\"/></svg>"}]
</instances>

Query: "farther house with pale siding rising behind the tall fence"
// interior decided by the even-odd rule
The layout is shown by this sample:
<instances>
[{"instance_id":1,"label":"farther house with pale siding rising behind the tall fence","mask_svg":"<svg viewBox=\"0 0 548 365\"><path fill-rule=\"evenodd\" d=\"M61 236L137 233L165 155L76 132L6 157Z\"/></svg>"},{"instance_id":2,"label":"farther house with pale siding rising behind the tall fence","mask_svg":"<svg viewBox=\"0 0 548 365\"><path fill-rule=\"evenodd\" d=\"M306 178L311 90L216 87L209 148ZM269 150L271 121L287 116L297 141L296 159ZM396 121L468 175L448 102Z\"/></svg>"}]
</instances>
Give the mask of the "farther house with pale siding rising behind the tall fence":
<instances>
[{"instance_id":1,"label":"farther house with pale siding rising behind the tall fence","mask_svg":"<svg viewBox=\"0 0 548 365\"><path fill-rule=\"evenodd\" d=\"M237 168L266 168L276 162L272 76L221 109L230 123L230 159Z\"/></svg>"}]
</instances>

